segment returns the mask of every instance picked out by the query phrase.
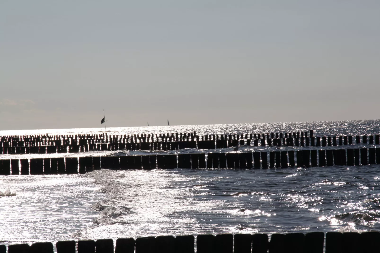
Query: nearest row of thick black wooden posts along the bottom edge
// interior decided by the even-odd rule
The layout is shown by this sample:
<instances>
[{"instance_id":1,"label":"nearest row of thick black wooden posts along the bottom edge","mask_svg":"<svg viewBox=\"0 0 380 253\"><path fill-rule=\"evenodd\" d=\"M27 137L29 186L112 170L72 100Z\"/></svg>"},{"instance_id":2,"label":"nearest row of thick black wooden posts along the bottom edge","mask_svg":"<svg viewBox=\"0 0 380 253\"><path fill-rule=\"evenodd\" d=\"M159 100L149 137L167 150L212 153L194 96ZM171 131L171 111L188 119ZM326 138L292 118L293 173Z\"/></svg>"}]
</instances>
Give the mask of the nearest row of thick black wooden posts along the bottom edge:
<instances>
[{"instance_id":1,"label":"nearest row of thick black wooden posts along the bottom edge","mask_svg":"<svg viewBox=\"0 0 380 253\"><path fill-rule=\"evenodd\" d=\"M196 240L196 247L195 247ZM60 241L57 253L379 253L380 232L272 234L202 234ZM115 249L115 251L114 251ZM0 253L6 246L0 245ZM8 253L53 253L51 242L8 246Z\"/></svg>"}]
</instances>

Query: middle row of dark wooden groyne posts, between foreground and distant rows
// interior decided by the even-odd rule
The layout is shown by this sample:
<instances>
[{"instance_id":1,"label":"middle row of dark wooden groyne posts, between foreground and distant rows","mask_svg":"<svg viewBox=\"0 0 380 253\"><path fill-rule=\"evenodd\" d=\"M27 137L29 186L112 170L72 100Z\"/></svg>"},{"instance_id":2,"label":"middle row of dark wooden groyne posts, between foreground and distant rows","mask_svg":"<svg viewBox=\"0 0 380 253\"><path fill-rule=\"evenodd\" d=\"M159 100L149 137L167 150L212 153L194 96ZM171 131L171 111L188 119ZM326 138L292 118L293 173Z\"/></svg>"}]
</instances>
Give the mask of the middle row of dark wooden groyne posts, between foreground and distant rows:
<instances>
[{"instance_id":1,"label":"middle row of dark wooden groyne posts, between foreground and distant rows","mask_svg":"<svg viewBox=\"0 0 380 253\"><path fill-rule=\"evenodd\" d=\"M0 175L84 174L98 169L267 169L380 164L380 148L0 160Z\"/></svg>"}]
</instances>

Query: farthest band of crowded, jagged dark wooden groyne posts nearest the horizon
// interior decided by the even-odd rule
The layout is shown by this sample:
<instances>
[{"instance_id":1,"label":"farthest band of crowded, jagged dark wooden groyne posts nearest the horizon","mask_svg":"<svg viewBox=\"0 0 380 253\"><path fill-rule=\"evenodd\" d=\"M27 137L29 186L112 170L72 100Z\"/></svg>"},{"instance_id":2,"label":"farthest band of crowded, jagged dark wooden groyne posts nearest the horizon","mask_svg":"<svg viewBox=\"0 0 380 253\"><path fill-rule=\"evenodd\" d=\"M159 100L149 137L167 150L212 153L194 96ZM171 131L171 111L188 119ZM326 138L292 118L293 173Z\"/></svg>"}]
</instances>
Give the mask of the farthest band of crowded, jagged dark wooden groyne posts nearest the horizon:
<instances>
[{"instance_id":1,"label":"farthest band of crowded, jagged dark wooden groyne posts nearest the horizon","mask_svg":"<svg viewBox=\"0 0 380 253\"><path fill-rule=\"evenodd\" d=\"M180 149L224 149L247 146L337 146L355 144L380 144L380 135L363 136L313 136L313 130L294 133L263 134L209 134L199 138L193 133L167 134L107 134L2 136L0 154L52 154L88 151L167 151ZM155 137L155 138L154 138Z\"/></svg>"}]
</instances>

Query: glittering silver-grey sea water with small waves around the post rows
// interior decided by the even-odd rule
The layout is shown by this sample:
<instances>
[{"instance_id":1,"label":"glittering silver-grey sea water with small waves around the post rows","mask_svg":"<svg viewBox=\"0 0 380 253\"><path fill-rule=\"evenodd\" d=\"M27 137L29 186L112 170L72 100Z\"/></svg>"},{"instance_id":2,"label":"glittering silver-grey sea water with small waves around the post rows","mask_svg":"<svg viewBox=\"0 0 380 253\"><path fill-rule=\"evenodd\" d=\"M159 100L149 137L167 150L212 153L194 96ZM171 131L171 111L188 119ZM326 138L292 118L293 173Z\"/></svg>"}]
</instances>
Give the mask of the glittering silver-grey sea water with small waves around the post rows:
<instances>
[{"instance_id":1,"label":"glittering silver-grey sea water with small waves around the post rows","mask_svg":"<svg viewBox=\"0 0 380 253\"><path fill-rule=\"evenodd\" d=\"M107 128L107 133L196 131L203 135L313 129L314 136L370 135L380 133L379 125L380 120L150 126ZM0 131L0 135L103 132L104 128L81 128ZM333 148L342 147L348 146ZM297 148L281 147L281 150ZM241 147L239 152L270 149L279 150L279 147ZM231 151L232 148L215 150ZM149 152L0 155L0 159L142 153ZM0 191L8 188L16 195L0 197L0 243L5 244L206 233L380 230L380 165L152 171L102 169L84 175L0 176Z\"/></svg>"}]
</instances>

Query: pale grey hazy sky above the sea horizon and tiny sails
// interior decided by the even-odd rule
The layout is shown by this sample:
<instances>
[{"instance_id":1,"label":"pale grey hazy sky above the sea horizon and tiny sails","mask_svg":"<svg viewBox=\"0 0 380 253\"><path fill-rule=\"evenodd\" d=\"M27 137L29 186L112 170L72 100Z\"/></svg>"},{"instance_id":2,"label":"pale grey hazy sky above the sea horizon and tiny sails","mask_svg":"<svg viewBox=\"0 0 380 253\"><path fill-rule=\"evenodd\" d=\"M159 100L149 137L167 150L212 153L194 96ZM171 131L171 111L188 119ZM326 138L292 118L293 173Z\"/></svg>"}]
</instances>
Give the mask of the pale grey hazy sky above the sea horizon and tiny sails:
<instances>
[{"instance_id":1,"label":"pale grey hazy sky above the sea horizon and tiny sails","mask_svg":"<svg viewBox=\"0 0 380 253\"><path fill-rule=\"evenodd\" d=\"M380 1L0 1L0 130L379 119Z\"/></svg>"}]
</instances>

